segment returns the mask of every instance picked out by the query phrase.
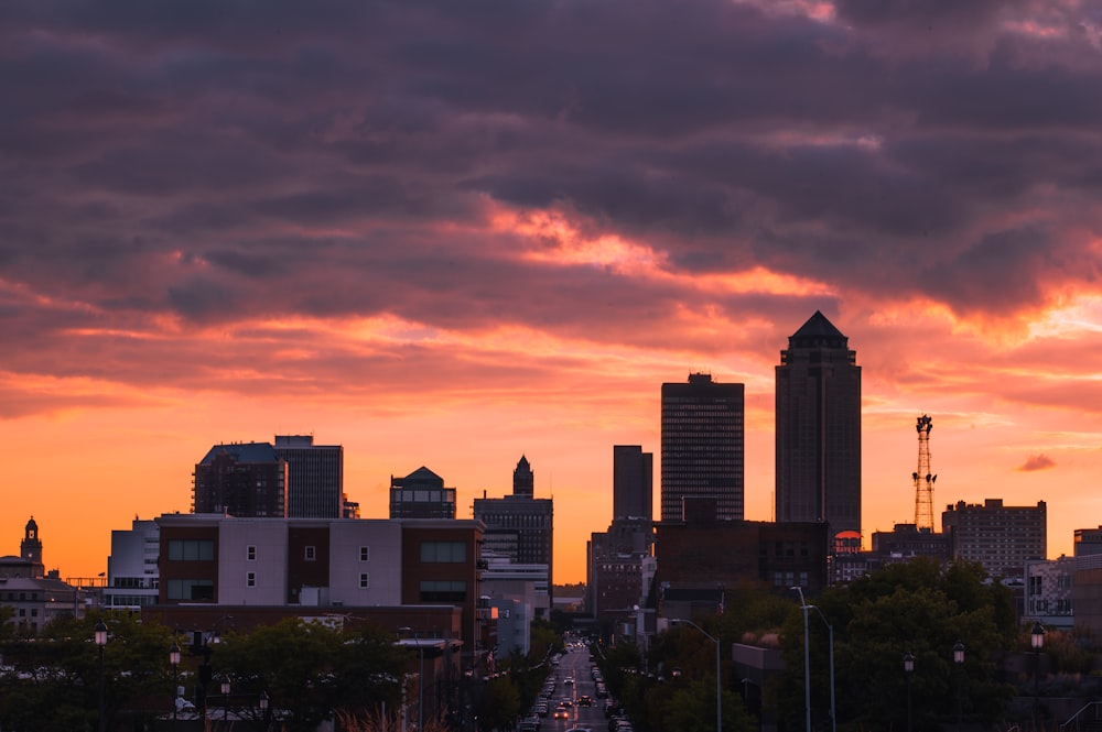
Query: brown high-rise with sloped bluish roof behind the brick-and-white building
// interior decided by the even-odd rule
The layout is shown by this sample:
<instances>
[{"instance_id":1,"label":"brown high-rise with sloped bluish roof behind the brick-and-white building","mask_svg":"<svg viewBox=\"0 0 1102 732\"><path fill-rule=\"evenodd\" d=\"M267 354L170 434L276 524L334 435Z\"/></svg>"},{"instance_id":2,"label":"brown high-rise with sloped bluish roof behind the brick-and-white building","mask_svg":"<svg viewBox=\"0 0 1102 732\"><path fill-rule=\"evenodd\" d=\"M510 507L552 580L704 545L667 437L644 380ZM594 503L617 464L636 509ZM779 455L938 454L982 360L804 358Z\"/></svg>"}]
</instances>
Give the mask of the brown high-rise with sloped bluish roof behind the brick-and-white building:
<instances>
[{"instance_id":1,"label":"brown high-rise with sloped bluish roof behind the brick-and-white building","mask_svg":"<svg viewBox=\"0 0 1102 732\"><path fill-rule=\"evenodd\" d=\"M215 445L194 478L194 513L287 516L287 460L270 443Z\"/></svg>"}]
</instances>

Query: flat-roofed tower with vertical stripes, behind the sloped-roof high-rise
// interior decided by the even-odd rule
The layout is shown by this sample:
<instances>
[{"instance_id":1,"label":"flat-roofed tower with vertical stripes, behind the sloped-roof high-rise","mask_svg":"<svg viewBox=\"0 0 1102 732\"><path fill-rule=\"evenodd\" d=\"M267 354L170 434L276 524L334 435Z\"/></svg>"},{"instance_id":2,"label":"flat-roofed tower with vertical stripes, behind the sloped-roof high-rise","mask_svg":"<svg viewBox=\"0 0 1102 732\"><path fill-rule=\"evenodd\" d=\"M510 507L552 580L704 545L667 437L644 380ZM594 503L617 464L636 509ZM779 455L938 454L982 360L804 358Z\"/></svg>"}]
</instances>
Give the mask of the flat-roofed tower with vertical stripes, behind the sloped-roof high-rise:
<instances>
[{"instance_id":1,"label":"flat-roofed tower with vertical stripes, behind the sloped-roof high-rise","mask_svg":"<svg viewBox=\"0 0 1102 732\"><path fill-rule=\"evenodd\" d=\"M314 445L312 435L277 435L276 455L287 460L287 515L344 515L344 448Z\"/></svg>"}]
</instances>

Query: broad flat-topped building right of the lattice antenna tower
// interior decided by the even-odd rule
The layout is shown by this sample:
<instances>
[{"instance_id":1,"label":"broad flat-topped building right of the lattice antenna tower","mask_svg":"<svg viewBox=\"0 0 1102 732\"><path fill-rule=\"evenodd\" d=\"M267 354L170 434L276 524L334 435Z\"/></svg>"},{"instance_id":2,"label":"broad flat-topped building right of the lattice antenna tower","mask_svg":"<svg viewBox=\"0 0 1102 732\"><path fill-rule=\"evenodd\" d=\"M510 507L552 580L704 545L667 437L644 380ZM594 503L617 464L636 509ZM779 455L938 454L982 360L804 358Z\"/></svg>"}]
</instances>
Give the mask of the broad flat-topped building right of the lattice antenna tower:
<instances>
[{"instance_id":1,"label":"broad flat-topped building right of the lattice antenna tower","mask_svg":"<svg viewBox=\"0 0 1102 732\"><path fill-rule=\"evenodd\" d=\"M1002 499L986 499L982 505L959 501L946 506L941 526L953 557L980 562L992 577L1022 578L1027 561L1046 558L1044 501L1036 506L1007 506Z\"/></svg>"}]
</instances>

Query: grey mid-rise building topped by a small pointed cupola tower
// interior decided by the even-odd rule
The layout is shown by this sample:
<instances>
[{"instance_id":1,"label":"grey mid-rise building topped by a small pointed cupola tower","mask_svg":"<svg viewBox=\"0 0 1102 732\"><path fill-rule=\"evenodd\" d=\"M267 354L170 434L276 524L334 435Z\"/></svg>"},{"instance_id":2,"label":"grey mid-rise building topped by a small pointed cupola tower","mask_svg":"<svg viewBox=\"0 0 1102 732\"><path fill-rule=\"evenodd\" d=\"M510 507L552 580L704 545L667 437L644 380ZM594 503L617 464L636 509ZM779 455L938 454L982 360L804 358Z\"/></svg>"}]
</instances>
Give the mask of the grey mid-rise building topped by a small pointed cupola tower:
<instances>
[{"instance_id":1,"label":"grey mid-rise building topped by a small pointed cupola tower","mask_svg":"<svg viewBox=\"0 0 1102 732\"><path fill-rule=\"evenodd\" d=\"M486 525L485 543L499 556L507 556L517 565L540 565L547 575L540 584L553 594L554 576L554 502L537 499L534 473L528 458L520 457L512 473L512 494L499 499L483 498L474 501L474 517ZM548 603L550 609L550 602ZM544 608L537 608L538 614Z\"/></svg>"}]
</instances>

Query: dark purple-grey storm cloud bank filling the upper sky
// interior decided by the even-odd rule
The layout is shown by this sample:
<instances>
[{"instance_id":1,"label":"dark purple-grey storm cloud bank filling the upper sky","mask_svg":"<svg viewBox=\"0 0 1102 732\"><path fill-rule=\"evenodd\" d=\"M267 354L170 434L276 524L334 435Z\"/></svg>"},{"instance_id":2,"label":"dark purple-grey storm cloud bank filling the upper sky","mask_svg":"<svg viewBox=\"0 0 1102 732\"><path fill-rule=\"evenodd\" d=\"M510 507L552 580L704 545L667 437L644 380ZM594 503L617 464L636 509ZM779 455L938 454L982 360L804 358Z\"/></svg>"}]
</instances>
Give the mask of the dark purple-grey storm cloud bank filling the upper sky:
<instances>
[{"instance_id":1,"label":"dark purple-grey storm cloud bank filling the upper sky","mask_svg":"<svg viewBox=\"0 0 1102 732\"><path fill-rule=\"evenodd\" d=\"M197 323L579 335L599 312L633 342L663 308L778 307L489 226L554 209L670 274L761 265L986 318L1093 287L1098 8L835 10L4 3L0 278Z\"/></svg>"}]
</instances>

